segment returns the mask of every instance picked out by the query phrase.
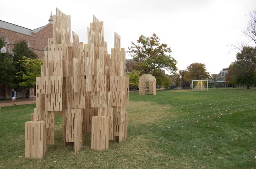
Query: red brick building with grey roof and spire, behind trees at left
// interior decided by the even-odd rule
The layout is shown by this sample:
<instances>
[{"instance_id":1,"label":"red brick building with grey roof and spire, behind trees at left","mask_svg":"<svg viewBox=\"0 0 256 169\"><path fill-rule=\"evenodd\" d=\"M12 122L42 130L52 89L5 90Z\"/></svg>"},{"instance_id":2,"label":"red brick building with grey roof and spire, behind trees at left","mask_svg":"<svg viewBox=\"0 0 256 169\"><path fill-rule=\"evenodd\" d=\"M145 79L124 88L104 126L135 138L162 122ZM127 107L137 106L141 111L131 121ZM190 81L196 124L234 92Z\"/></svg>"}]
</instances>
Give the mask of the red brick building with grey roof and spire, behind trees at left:
<instances>
[{"instance_id":1,"label":"red brick building with grey roof and spire, behind trees at left","mask_svg":"<svg viewBox=\"0 0 256 169\"><path fill-rule=\"evenodd\" d=\"M3 39L6 50L12 53L15 44L21 40L25 40L29 49L37 53L38 58L42 58L44 51L48 50L48 38L53 37L52 14L48 21L43 27L32 30L0 20L0 38ZM34 94L32 89L29 91L30 95ZM26 93L26 96L29 96L29 91ZM16 92L18 97L22 96L20 89L16 89ZM11 98L11 87L0 84L0 99L4 98Z\"/></svg>"}]
</instances>

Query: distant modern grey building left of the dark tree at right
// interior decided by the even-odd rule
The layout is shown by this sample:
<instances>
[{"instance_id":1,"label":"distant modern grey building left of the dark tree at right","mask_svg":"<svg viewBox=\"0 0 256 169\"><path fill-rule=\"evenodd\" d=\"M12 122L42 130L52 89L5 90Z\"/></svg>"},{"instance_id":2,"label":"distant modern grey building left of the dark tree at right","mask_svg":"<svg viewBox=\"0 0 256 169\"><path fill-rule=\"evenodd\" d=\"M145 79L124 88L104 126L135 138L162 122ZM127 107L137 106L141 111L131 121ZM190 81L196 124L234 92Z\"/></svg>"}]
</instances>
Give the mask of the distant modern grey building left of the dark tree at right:
<instances>
[{"instance_id":1,"label":"distant modern grey building left of the dark tree at right","mask_svg":"<svg viewBox=\"0 0 256 169\"><path fill-rule=\"evenodd\" d=\"M228 69L223 68L222 71L220 71L219 74L216 75L216 81L215 82L209 82L211 87L234 87L234 84L226 84L225 77L228 74Z\"/></svg>"}]
</instances>

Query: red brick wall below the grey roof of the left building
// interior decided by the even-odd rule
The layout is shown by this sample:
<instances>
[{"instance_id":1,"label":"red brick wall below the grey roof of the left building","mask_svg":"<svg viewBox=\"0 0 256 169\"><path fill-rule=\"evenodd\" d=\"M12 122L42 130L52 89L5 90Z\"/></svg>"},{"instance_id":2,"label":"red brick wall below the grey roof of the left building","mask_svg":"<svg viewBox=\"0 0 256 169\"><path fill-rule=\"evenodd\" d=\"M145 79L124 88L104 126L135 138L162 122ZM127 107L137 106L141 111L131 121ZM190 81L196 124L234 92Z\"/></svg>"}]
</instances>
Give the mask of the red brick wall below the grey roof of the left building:
<instances>
[{"instance_id":1,"label":"red brick wall below the grey roof of the left building","mask_svg":"<svg viewBox=\"0 0 256 169\"><path fill-rule=\"evenodd\" d=\"M3 36L8 36L11 49L14 47L14 44L21 40L29 41L32 48L39 49L33 49L33 51L38 54L38 58L42 58L44 56L43 50L48 46L48 38L53 37L53 25L49 24L39 32L32 33L31 36L0 28L0 37Z\"/></svg>"}]
</instances>

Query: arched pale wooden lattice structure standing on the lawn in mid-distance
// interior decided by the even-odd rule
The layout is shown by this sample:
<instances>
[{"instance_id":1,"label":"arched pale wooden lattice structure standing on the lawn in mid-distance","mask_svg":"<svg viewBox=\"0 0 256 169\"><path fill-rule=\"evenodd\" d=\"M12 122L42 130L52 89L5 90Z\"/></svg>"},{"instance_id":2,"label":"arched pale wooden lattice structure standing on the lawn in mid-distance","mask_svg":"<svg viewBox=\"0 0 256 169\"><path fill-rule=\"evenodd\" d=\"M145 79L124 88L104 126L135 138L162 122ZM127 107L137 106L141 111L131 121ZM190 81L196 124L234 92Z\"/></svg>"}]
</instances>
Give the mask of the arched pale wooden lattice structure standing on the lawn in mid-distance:
<instances>
[{"instance_id":1,"label":"arched pale wooden lattice structure standing on the lawn in mid-distance","mask_svg":"<svg viewBox=\"0 0 256 169\"><path fill-rule=\"evenodd\" d=\"M156 78L151 74L143 74L139 77L139 95L146 94L146 82L149 84L149 94L156 95Z\"/></svg>"}]
</instances>

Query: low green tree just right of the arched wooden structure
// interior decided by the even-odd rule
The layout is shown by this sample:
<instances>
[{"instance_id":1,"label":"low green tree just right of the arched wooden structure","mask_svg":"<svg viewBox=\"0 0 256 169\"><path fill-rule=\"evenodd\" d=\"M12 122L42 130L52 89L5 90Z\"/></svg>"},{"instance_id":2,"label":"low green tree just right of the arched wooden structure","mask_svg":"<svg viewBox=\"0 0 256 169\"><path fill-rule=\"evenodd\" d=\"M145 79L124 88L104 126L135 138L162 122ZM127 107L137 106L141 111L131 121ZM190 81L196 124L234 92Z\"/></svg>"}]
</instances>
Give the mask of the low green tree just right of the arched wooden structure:
<instances>
[{"instance_id":1,"label":"low green tree just right of the arched wooden structure","mask_svg":"<svg viewBox=\"0 0 256 169\"><path fill-rule=\"evenodd\" d=\"M172 84L170 76L163 73L160 69L152 71L152 75L155 76L157 85L168 87Z\"/></svg>"}]
</instances>

